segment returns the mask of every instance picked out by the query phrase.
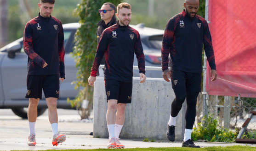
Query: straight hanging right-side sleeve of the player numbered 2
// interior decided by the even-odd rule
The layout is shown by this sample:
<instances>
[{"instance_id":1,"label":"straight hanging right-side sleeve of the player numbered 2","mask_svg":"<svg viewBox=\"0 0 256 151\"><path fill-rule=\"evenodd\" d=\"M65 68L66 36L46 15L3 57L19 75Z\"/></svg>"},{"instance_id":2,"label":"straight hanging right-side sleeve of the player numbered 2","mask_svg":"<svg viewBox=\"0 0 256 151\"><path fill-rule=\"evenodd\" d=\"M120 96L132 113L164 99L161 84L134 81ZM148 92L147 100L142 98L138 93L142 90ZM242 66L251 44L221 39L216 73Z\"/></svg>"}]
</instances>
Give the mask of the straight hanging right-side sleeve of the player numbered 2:
<instances>
[{"instance_id":1,"label":"straight hanging right-side sleeve of the player numbered 2","mask_svg":"<svg viewBox=\"0 0 256 151\"><path fill-rule=\"evenodd\" d=\"M59 69L60 69L60 77L65 79L65 64L64 64L64 57L65 57L65 50L64 50L64 32L62 23L60 22L60 31L58 34L58 49L59 49Z\"/></svg>"}]
</instances>

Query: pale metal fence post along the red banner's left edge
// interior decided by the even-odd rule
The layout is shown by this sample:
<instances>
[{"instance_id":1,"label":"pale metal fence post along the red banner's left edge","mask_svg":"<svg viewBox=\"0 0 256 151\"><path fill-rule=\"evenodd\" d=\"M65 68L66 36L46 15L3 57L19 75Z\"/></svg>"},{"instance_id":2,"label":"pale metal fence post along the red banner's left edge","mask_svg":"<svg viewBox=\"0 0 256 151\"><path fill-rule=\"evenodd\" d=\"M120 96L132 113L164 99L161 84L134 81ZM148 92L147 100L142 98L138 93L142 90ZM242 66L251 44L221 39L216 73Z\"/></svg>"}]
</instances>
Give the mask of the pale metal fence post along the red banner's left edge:
<instances>
[{"instance_id":1,"label":"pale metal fence post along the red banner's left edge","mask_svg":"<svg viewBox=\"0 0 256 151\"><path fill-rule=\"evenodd\" d=\"M208 21L208 6L209 6L209 0L205 0L205 20ZM205 54L205 53L204 53ZM206 60L207 57L204 55L204 83L203 83L203 117L206 115L208 116L209 108L206 103L207 99L207 93L205 92L205 86L206 86Z\"/></svg>"}]
</instances>

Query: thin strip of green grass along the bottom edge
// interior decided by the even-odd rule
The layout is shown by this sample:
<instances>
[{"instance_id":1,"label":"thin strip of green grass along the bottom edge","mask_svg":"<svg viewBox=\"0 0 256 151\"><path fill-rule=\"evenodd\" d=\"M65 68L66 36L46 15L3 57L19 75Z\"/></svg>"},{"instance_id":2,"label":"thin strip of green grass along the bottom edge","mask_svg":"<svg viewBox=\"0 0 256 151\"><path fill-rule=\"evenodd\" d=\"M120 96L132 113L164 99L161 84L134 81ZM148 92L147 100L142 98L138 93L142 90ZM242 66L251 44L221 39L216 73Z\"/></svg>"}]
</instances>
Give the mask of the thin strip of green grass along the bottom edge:
<instances>
[{"instance_id":1,"label":"thin strip of green grass along the bottom edge","mask_svg":"<svg viewBox=\"0 0 256 151\"><path fill-rule=\"evenodd\" d=\"M129 148L122 149L127 151L256 151L256 147L251 146L227 146L227 147L207 147L207 148L188 148L188 147L165 147L165 148ZM56 150L47 150L56 151ZM94 150L63 150L63 151L109 151L109 149Z\"/></svg>"}]
</instances>

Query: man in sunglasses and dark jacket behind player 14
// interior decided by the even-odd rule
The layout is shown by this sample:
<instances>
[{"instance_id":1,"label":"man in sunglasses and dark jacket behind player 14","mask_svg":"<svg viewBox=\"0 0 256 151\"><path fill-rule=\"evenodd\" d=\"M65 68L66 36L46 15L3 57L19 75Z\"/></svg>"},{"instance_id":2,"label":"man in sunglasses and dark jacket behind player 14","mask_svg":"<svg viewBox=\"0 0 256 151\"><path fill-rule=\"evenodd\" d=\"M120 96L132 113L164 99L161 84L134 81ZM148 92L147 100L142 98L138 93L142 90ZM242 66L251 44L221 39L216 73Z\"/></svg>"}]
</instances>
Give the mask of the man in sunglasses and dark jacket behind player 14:
<instances>
[{"instance_id":1,"label":"man in sunglasses and dark jacket behind player 14","mask_svg":"<svg viewBox=\"0 0 256 151\"><path fill-rule=\"evenodd\" d=\"M102 32L106 28L116 24L117 22L115 17L116 7L114 4L104 3L101 9L99 10L99 12L101 14L101 21L97 23L97 25L99 26L97 28L97 45L100 42ZM105 55L103 56L100 65L105 65ZM98 76L98 72L97 72L97 76Z\"/></svg>"}]
</instances>

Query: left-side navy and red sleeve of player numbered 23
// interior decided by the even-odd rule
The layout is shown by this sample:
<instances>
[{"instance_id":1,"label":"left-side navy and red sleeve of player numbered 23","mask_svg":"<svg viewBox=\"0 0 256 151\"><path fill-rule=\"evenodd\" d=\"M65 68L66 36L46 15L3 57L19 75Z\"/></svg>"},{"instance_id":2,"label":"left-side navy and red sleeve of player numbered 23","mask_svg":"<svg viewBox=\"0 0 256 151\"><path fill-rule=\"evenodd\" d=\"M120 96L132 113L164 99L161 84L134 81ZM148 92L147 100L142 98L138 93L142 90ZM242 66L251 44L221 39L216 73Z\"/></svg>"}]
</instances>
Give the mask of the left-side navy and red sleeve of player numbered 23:
<instances>
[{"instance_id":1,"label":"left-side navy and red sleeve of player numbered 23","mask_svg":"<svg viewBox=\"0 0 256 151\"><path fill-rule=\"evenodd\" d=\"M174 23L172 19L169 20L165 27L165 33L162 42L161 56L162 56L162 71L169 70L168 68L168 56L171 52L170 47L174 38Z\"/></svg>"}]
</instances>

